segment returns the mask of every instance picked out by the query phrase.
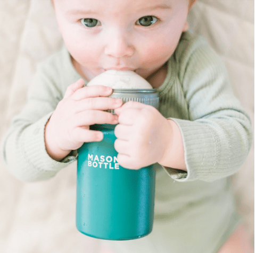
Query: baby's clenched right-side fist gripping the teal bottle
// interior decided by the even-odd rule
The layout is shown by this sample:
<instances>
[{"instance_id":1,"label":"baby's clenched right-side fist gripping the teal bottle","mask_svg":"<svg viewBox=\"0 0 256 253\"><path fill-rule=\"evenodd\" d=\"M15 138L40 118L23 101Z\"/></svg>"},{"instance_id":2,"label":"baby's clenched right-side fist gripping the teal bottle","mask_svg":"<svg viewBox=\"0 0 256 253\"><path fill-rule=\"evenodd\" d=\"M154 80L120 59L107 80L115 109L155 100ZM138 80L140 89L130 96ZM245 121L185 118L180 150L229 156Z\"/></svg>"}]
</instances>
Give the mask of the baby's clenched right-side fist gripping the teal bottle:
<instances>
[{"instance_id":1,"label":"baby's clenched right-side fist gripping the teal bottle","mask_svg":"<svg viewBox=\"0 0 256 253\"><path fill-rule=\"evenodd\" d=\"M168 120L154 107L133 101L115 109L115 114L119 116L114 129L119 164L140 169L159 162L172 140Z\"/></svg>"}]
</instances>

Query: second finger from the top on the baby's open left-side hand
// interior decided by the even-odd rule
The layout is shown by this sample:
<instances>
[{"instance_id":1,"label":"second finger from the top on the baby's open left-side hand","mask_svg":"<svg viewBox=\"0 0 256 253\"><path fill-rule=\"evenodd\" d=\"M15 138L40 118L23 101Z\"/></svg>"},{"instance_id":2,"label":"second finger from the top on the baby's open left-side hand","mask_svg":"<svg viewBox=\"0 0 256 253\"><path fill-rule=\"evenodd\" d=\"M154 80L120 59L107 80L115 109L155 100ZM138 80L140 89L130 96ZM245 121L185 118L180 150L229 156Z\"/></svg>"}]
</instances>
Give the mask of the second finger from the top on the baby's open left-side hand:
<instances>
[{"instance_id":1,"label":"second finger from the top on the baby's open left-side hand","mask_svg":"<svg viewBox=\"0 0 256 253\"><path fill-rule=\"evenodd\" d=\"M97 97L87 98L76 102L76 112L85 110L109 110L122 105L121 99Z\"/></svg>"}]
</instances>

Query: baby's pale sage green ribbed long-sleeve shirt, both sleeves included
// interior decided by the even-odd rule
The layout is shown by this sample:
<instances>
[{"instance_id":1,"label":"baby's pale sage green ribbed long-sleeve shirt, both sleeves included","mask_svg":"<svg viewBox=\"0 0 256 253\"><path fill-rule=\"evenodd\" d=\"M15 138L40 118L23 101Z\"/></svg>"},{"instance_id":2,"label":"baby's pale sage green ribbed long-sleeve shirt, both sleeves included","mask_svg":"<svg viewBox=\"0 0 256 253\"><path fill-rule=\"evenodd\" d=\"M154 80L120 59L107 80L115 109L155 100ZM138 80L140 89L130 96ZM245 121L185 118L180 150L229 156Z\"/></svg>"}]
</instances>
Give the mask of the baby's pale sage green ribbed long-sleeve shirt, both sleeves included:
<instances>
[{"instance_id":1,"label":"baby's pale sage green ribbed long-sleeve shirt, both sleeves included","mask_svg":"<svg viewBox=\"0 0 256 253\"><path fill-rule=\"evenodd\" d=\"M13 119L3 146L7 166L17 178L45 180L76 160L75 152L60 162L48 156L44 127L67 87L79 78L65 47L38 67L27 104ZM180 128L187 172L159 165L155 231L163 221L170 225L172 251L166 252L217 252L239 220L228 176L241 168L250 150L249 116L234 97L220 58L202 37L189 32L182 34L157 90L159 111ZM146 238L153 241L155 233L153 229ZM125 245L129 242L119 243ZM144 252L136 250L130 252Z\"/></svg>"}]
</instances>

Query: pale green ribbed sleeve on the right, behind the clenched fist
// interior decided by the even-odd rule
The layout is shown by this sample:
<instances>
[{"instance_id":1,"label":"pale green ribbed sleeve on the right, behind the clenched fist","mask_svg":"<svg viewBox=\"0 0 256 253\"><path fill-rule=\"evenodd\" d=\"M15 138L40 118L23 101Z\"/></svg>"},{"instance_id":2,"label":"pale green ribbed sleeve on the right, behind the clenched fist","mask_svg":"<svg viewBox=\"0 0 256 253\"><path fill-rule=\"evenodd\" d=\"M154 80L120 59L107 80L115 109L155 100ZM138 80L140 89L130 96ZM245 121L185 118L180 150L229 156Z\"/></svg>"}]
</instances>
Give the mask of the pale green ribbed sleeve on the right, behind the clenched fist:
<instances>
[{"instance_id":1,"label":"pale green ribbed sleeve on the right, behind the clenched fist","mask_svg":"<svg viewBox=\"0 0 256 253\"><path fill-rule=\"evenodd\" d=\"M177 181L228 177L242 167L249 153L250 117L233 94L224 63L207 42L201 40L191 48L186 39L181 43L179 80L189 120L171 119L181 131L187 172L165 169Z\"/></svg>"}]
</instances>

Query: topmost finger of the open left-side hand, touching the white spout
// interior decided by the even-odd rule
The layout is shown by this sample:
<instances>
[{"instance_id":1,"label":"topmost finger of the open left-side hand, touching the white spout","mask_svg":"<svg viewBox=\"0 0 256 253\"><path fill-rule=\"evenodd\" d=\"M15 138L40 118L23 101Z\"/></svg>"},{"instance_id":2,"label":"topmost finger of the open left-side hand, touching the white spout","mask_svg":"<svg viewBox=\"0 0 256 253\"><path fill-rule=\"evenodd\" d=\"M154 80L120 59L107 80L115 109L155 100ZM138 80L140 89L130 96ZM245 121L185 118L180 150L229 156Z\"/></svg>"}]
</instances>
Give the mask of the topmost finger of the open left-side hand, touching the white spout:
<instances>
[{"instance_id":1,"label":"topmost finger of the open left-side hand, touching the white spout","mask_svg":"<svg viewBox=\"0 0 256 253\"><path fill-rule=\"evenodd\" d=\"M85 86L72 95L74 100L86 98L108 97L112 93L112 88L103 85Z\"/></svg>"}]
</instances>

